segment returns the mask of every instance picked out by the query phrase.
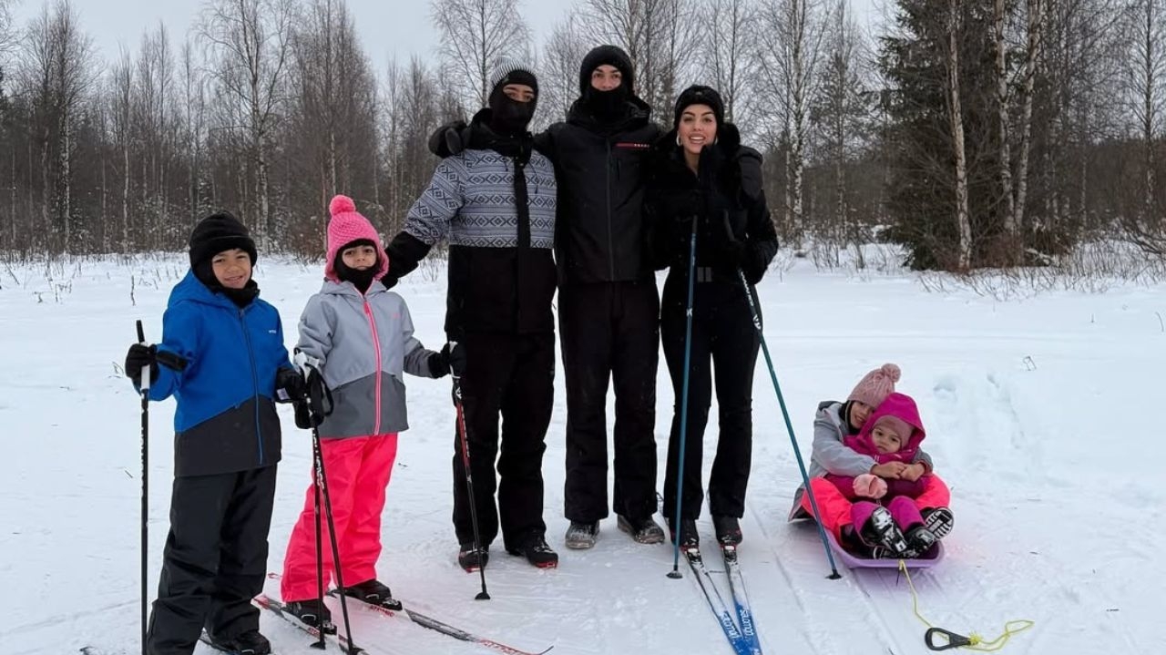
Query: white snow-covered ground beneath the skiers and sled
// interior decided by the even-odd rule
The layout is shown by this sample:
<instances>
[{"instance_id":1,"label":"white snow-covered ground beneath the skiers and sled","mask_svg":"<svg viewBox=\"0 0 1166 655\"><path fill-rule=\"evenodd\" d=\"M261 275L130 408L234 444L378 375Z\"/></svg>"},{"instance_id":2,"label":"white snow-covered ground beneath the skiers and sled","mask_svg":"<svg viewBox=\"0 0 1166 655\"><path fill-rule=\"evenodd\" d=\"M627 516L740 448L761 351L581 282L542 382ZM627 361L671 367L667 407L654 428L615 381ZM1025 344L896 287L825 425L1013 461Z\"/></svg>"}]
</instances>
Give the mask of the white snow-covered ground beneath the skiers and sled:
<instances>
[{"instance_id":1,"label":"white snow-covered ground beneath the skiers and sled","mask_svg":"<svg viewBox=\"0 0 1166 655\"><path fill-rule=\"evenodd\" d=\"M0 653L58 655L93 646L138 652L140 404L120 375L134 319L156 339L184 256L0 267ZM420 338L442 343L444 279L398 290ZM261 262L264 297L287 338L321 270ZM995 638L1012 619L1035 626L1016 654L1163 653L1157 604L1166 589L1163 462L1166 286L1101 295L1047 293L998 303L929 293L909 274L859 281L805 261L760 287L765 333L808 457L817 401L844 396L884 361L920 404L927 448L949 483L956 529L947 559L913 576L930 621ZM672 389L659 376L663 470ZM556 383L547 436L548 540L562 544L566 403ZM557 570L498 552L493 600L455 564L450 524L449 381L409 381L413 428L388 488L381 577L415 607L512 646L555 655L731 653L690 575L672 580L670 547L644 547L603 523L598 545L560 548ZM173 401L152 406L149 587L168 526ZM287 411L286 408L281 411ZM309 437L285 416L269 566L309 481ZM805 526L786 523L799 473L764 360L754 385L756 446L740 557L766 653L925 653L926 626L894 571L829 568ZM716 430L705 439L710 444ZM705 458L709 462L711 458ZM662 483L661 483L662 484ZM710 538L707 517L702 531ZM407 621L354 620L382 653L483 653ZM314 653L264 617L278 653ZM199 653L208 652L199 646Z\"/></svg>"}]
</instances>

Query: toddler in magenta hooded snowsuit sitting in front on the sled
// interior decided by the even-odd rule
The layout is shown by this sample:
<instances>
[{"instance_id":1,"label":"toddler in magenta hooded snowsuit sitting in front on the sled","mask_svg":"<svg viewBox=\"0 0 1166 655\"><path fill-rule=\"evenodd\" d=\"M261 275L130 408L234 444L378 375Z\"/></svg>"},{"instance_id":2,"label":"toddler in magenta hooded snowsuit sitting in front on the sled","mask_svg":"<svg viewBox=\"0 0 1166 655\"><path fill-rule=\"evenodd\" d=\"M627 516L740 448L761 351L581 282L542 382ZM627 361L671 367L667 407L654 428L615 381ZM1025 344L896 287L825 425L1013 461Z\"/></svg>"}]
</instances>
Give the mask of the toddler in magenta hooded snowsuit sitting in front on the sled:
<instances>
[{"instance_id":1,"label":"toddler in magenta hooded snowsuit sitting in front on the sled","mask_svg":"<svg viewBox=\"0 0 1166 655\"><path fill-rule=\"evenodd\" d=\"M884 479L873 473L826 476L847 499L855 500L850 517L857 537L866 545L883 547L897 557L918 556L939 541L923 523L913 500L930 483L930 466L915 462L926 436L915 401L906 394L892 393L874 409L862 430L844 437L842 443L855 452L874 458L880 465L901 463L921 466L923 474L913 480Z\"/></svg>"}]
</instances>

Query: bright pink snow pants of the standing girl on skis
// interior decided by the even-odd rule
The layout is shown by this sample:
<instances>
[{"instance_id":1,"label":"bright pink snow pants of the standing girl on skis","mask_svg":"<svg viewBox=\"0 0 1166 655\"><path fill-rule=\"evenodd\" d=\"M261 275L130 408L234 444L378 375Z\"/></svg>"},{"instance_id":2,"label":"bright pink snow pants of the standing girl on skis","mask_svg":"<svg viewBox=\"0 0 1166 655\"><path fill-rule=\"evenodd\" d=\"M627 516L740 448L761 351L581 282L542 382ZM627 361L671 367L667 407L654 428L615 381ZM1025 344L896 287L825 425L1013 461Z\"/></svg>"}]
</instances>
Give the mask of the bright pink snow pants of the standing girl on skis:
<instances>
[{"instance_id":1,"label":"bright pink snow pants of the standing girl on skis","mask_svg":"<svg viewBox=\"0 0 1166 655\"><path fill-rule=\"evenodd\" d=\"M385 490L396 459L396 434L372 437L321 439L328 494L332 501L332 523L340 552L340 573L345 586L377 577L380 557L380 516ZM321 535L324 561L324 591L336 582L328 520L321 499ZM292 530L283 556L280 596L285 603L317 597L315 487L308 485L303 512Z\"/></svg>"}]
</instances>

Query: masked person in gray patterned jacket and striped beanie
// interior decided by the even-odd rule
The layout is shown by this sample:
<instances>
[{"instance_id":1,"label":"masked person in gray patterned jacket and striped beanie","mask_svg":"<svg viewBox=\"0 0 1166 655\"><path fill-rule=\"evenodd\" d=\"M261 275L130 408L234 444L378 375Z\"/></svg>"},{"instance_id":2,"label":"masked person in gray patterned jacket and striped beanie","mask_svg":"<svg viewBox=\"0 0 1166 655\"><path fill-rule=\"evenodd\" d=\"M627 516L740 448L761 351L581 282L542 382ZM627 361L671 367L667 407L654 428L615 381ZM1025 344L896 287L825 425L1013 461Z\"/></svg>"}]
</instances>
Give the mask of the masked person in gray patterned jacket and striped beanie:
<instances>
[{"instance_id":1,"label":"masked person in gray patterned jacket and striped beanie","mask_svg":"<svg viewBox=\"0 0 1166 655\"><path fill-rule=\"evenodd\" d=\"M455 446L454 528L458 563L468 571L486 565L499 522L507 552L535 566L559 563L542 520L542 453L554 402L557 188L554 167L534 152L527 131L539 92L531 68L503 61L491 82L489 106L473 117L468 147L442 161L389 244L385 277L392 286L437 241L449 239L445 332L452 372L462 378L482 537L476 549L465 470ZM499 415L501 480L496 484Z\"/></svg>"}]
</instances>

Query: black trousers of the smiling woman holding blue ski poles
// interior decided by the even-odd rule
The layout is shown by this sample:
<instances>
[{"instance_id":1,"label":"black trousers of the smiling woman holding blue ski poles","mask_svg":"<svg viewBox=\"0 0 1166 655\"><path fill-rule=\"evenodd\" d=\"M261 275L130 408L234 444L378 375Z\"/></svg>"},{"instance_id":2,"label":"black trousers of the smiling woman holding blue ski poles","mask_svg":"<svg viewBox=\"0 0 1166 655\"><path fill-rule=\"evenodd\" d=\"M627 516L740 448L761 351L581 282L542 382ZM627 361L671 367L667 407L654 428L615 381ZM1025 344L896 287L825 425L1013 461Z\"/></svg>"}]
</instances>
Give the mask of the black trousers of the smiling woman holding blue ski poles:
<instances>
[{"instance_id":1,"label":"black trousers of the smiling woman holding blue ski poles","mask_svg":"<svg viewBox=\"0 0 1166 655\"><path fill-rule=\"evenodd\" d=\"M757 293L752 288L754 303ZM663 514L676 512L681 399L684 381L684 310L688 282L670 273L665 283L660 333L663 355L675 390ZM760 305L758 304L758 311ZM753 446L753 367L760 339L740 282L697 282L693 302L693 345L688 369L688 422L684 436L682 519L697 519L704 492L701 485L704 427L712 389L719 415L717 451L709 476L709 512L714 516L745 514L745 488ZM711 365L711 366L710 366Z\"/></svg>"}]
</instances>

